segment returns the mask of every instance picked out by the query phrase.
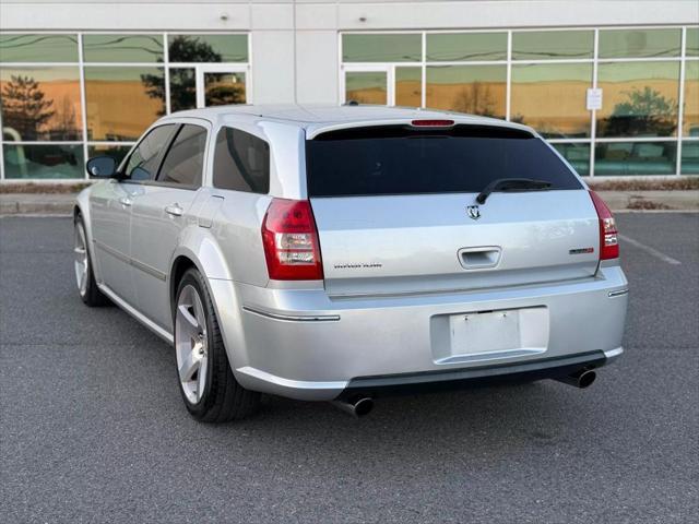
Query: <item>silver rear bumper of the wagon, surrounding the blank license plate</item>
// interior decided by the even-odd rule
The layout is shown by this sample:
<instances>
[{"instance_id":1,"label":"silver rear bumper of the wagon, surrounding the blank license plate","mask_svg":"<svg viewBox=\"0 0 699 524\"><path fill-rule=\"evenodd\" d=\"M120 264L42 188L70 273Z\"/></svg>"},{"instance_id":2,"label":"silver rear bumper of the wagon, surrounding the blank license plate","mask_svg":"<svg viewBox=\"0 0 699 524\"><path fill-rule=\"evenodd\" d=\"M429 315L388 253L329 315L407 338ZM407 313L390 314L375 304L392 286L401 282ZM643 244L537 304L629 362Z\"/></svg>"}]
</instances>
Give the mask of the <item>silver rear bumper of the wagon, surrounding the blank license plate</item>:
<instances>
[{"instance_id":1,"label":"silver rear bumper of the wagon, surrounding the blank license plate","mask_svg":"<svg viewBox=\"0 0 699 524\"><path fill-rule=\"evenodd\" d=\"M210 283L236 379L299 400L529 381L596 368L621 353L628 299L619 266L579 282L370 299ZM524 308L547 312L535 326L545 332L543 347L443 358L442 319Z\"/></svg>"}]
</instances>

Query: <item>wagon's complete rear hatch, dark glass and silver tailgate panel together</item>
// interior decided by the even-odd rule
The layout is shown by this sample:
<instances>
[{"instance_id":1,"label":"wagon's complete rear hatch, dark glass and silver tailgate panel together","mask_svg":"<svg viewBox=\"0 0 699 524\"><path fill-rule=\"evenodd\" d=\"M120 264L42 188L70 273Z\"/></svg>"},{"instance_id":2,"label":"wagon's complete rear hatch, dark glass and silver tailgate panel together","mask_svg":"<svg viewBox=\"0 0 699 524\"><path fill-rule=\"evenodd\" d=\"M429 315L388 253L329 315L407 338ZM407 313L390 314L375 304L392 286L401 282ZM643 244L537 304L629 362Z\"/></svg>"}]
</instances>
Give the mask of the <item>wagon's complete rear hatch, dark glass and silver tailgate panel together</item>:
<instances>
[{"instance_id":1,"label":"wagon's complete rear hatch, dark glass and silver tailgate panel together","mask_svg":"<svg viewBox=\"0 0 699 524\"><path fill-rule=\"evenodd\" d=\"M463 291L589 278L590 194L541 139L501 126L405 122L307 141L307 182L331 296ZM498 179L548 188L497 190Z\"/></svg>"}]
</instances>

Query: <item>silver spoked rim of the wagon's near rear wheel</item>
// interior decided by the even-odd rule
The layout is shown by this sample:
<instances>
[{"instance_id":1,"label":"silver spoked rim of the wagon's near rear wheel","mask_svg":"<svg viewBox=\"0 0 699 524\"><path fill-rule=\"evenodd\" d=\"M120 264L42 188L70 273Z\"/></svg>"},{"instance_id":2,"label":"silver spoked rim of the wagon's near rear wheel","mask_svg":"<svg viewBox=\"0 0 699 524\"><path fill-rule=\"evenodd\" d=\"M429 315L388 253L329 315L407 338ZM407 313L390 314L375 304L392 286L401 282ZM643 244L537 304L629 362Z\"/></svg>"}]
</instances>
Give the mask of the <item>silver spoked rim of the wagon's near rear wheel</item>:
<instances>
[{"instance_id":1,"label":"silver spoked rim of the wagon's near rear wheel","mask_svg":"<svg viewBox=\"0 0 699 524\"><path fill-rule=\"evenodd\" d=\"M209 365L206 315L199 293L192 285L182 288L175 314L177 369L185 396L197 404L206 386Z\"/></svg>"}]
</instances>

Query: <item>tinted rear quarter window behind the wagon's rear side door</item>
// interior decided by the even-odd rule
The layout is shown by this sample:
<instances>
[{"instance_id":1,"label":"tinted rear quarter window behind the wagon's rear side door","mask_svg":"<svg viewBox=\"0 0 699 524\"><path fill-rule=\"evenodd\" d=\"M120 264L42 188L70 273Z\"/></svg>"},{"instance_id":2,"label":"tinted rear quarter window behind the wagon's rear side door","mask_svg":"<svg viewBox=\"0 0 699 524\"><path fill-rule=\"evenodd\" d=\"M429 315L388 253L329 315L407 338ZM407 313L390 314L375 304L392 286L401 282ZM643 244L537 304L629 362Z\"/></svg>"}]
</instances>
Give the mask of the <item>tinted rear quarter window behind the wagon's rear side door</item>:
<instances>
[{"instance_id":1,"label":"tinted rear quarter window behind the wagon's rear side door","mask_svg":"<svg viewBox=\"0 0 699 524\"><path fill-rule=\"evenodd\" d=\"M239 129L221 128L214 153L214 187L247 193L268 193L269 144Z\"/></svg>"}]
</instances>

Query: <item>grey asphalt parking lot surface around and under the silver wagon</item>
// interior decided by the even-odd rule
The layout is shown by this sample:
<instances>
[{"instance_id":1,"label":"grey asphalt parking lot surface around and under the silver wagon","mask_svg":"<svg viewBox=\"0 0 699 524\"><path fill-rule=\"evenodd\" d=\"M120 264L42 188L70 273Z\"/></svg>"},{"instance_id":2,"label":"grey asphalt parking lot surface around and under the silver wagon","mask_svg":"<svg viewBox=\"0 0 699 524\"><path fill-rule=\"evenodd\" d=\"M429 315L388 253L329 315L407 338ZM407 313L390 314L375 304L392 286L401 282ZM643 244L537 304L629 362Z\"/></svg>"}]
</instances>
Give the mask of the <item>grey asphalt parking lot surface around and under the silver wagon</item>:
<instances>
[{"instance_id":1,"label":"grey asphalt parking lot surface around and under the silver wagon","mask_svg":"<svg viewBox=\"0 0 699 524\"><path fill-rule=\"evenodd\" d=\"M699 214L617 219L626 354L590 389L388 398L359 420L266 397L206 426L168 346L81 302L71 221L0 218L0 520L696 522Z\"/></svg>"}]
</instances>

